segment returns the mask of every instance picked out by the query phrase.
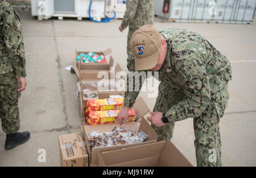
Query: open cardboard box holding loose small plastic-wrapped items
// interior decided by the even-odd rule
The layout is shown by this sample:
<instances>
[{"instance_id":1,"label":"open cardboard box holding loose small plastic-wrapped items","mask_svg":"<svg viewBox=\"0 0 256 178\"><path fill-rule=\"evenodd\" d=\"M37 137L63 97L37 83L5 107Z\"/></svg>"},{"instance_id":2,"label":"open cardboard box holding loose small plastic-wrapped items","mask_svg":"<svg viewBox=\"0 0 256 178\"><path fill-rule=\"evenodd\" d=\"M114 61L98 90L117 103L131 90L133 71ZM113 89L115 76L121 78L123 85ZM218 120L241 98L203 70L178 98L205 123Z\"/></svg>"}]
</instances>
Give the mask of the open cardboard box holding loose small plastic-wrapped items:
<instances>
[{"instance_id":1,"label":"open cardboard box holding loose small plastic-wrapped items","mask_svg":"<svg viewBox=\"0 0 256 178\"><path fill-rule=\"evenodd\" d=\"M144 102L142 98L138 98L135 101L134 104L134 110L137 113L136 120L133 122L126 122L125 125L122 125L121 127L132 129L135 132L143 131L148 135L147 141L142 143L136 143L136 144L130 144L130 145L115 145L115 146L108 146L108 147L94 147L92 149L92 155L90 154L90 145L88 142L87 134L91 131L99 131L99 132L111 132L114 126L120 127L118 123L116 124L102 124L102 125L85 125L85 120L82 121L82 133L84 135L84 140L86 143L86 149L88 151L89 155L89 165L90 166L98 166L98 151L111 151L111 150L117 150L125 147L132 147L137 145L144 145L147 143L156 142L158 135L155 133L155 130L148 124L148 122L143 117L150 109L147 107L147 104ZM136 122L139 118L141 119L141 122Z\"/></svg>"}]
</instances>

